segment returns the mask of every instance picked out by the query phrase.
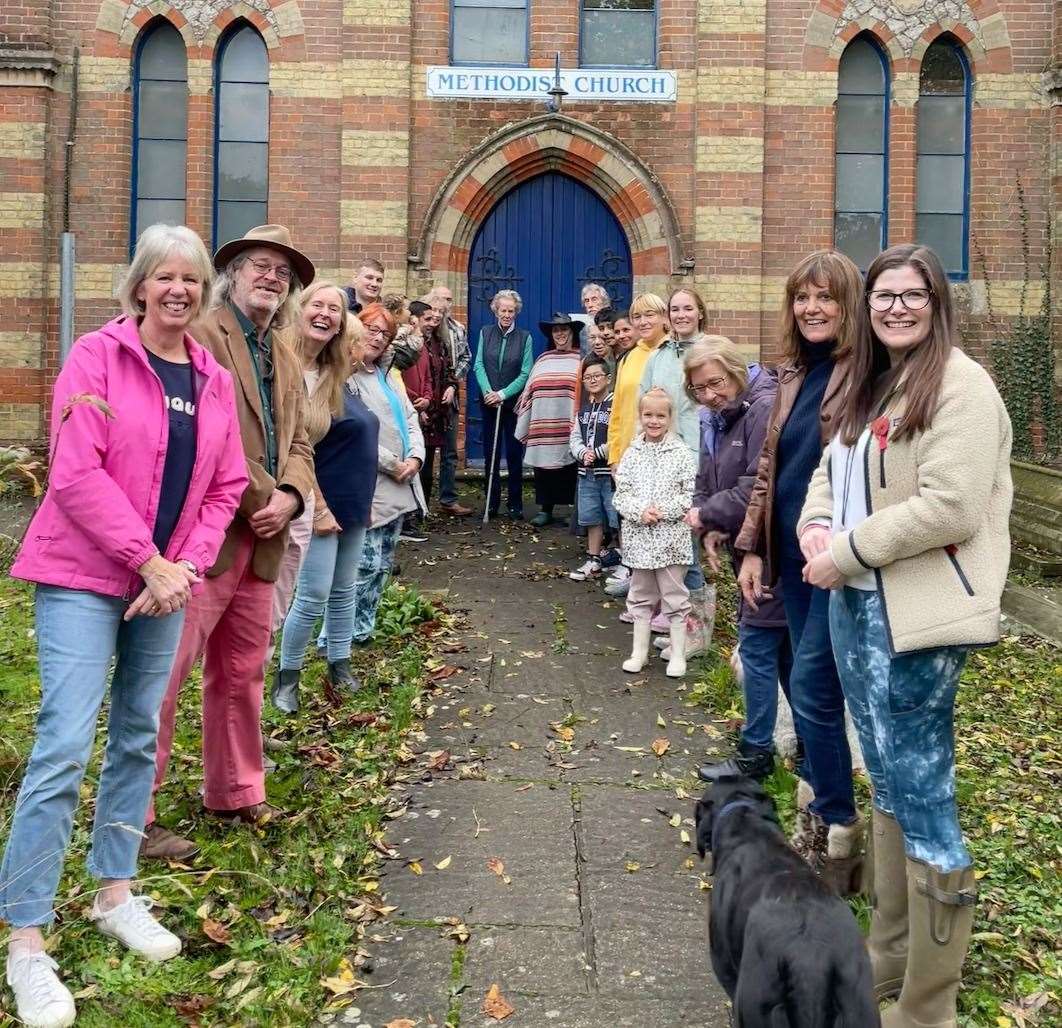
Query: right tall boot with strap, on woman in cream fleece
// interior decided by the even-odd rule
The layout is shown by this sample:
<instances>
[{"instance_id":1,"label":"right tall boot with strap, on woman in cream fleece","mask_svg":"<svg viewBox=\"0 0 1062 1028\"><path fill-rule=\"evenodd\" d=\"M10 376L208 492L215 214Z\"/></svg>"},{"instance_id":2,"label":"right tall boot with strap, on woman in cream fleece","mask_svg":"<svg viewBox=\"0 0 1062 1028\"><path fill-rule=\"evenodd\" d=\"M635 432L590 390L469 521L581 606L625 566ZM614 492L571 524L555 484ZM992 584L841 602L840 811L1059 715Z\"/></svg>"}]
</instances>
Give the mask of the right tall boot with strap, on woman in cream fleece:
<instances>
[{"instance_id":1,"label":"right tall boot with strap, on woman in cream fleece","mask_svg":"<svg viewBox=\"0 0 1062 1028\"><path fill-rule=\"evenodd\" d=\"M956 1028L976 902L973 868L943 874L907 859L907 973L900 999L881 1014L883 1028Z\"/></svg>"}]
</instances>

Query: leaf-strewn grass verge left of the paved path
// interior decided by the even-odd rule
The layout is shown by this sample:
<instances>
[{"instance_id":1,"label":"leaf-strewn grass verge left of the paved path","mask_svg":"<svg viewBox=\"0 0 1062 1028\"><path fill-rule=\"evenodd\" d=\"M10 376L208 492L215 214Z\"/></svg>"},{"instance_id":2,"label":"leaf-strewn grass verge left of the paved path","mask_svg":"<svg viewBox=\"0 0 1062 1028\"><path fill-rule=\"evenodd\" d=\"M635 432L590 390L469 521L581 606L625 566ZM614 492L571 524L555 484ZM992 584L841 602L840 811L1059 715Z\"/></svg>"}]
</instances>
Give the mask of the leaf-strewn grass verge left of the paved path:
<instances>
[{"instance_id":1,"label":"leaf-strewn grass verge left of the paved path","mask_svg":"<svg viewBox=\"0 0 1062 1028\"><path fill-rule=\"evenodd\" d=\"M158 810L165 825L202 849L189 867L153 861L140 869L143 891L185 944L164 964L129 955L87 920L96 883L84 861L101 732L56 897L53 937L53 955L78 996L79 1025L306 1025L329 1005L350 1000L359 943L378 915L382 825L398 805L390 786L412 759L405 739L435 666L431 652L448 623L415 590L392 585L377 641L357 654L364 688L354 699L326 697L322 662L307 664L299 715L286 719L267 709L266 730L279 747L271 754L277 768L268 778L269 799L290 816L261 828L230 828L200 816L198 676L186 685ZM30 587L0 582L0 624L5 839L38 698ZM0 930L0 941L2 936ZM11 1017L10 1004L4 991L0 1024Z\"/></svg>"}]
</instances>

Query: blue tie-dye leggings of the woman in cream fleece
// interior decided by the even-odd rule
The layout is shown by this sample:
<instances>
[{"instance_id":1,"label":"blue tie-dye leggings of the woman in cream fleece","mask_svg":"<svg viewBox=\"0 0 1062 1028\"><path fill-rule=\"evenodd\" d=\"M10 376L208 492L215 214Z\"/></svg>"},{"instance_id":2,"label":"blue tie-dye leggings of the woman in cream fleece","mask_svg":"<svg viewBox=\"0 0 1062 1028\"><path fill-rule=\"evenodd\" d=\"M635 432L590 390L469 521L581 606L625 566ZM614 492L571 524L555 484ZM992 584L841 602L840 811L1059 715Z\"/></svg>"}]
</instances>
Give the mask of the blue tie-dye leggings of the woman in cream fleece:
<instances>
[{"instance_id":1,"label":"blue tie-dye leggings of the woman in cream fleece","mask_svg":"<svg viewBox=\"0 0 1062 1028\"><path fill-rule=\"evenodd\" d=\"M965 648L892 656L881 598L863 589L833 594L829 627L874 806L900 822L908 856L942 872L969 868L955 804L955 693Z\"/></svg>"}]
</instances>

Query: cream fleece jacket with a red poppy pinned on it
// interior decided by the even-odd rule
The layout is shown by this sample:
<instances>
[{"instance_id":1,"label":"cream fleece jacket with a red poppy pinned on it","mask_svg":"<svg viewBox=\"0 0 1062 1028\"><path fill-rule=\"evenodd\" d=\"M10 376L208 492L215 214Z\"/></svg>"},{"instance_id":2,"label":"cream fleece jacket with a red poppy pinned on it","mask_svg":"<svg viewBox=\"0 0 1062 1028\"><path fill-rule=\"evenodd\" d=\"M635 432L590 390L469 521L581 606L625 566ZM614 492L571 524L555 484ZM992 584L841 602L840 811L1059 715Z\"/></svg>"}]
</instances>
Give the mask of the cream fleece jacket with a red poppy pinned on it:
<instances>
[{"instance_id":1,"label":"cream fleece jacket with a red poppy pinned on it","mask_svg":"<svg viewBox=\"0 0 1062 1028\"><path fill-rule=\"evenodd\" d=\"M903 400L887 411L891 436ZM1010 417L988 372L960 349L944 367L925 431L867 446L870 516L834 536L841 573L873 570L893 653L999 638L1010 564ZM832 521L829 448L811 477L798 532Z\"/></svg>"}]
</instances>

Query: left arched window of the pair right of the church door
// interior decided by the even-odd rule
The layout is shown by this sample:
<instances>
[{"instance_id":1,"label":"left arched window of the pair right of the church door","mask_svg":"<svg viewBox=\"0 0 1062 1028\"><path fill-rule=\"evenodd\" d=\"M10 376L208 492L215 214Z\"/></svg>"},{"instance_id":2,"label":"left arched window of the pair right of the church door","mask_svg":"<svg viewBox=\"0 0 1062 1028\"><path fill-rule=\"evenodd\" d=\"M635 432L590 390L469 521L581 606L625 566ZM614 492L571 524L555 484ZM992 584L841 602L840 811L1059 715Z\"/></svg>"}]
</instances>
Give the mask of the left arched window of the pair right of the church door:
<instances>
[{"instance_id":1,"label":"left arched window of the pair right of the church door","mask_svg":"<svg viewBox=\"0 0 1062 1028\"><path fill-rule=\"evenodd\" d=\"M837 79L834 245L867 268L888 239L889 66L857 36Z\"/></svg>"}]
</instances>

